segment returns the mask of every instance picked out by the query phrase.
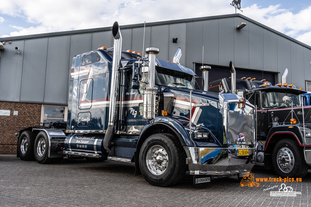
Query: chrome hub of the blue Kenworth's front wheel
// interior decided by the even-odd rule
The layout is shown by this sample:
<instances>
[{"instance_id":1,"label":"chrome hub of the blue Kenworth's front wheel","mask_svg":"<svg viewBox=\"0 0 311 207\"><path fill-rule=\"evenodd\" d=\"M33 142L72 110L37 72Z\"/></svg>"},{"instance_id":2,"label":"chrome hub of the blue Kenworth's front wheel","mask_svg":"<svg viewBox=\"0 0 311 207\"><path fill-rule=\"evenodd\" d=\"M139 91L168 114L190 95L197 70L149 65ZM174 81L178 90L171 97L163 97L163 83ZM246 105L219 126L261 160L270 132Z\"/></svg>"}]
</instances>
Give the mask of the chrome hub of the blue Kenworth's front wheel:
<instances>
[{"instance_id":1,"label":"chrome hub of the blue Kenworth's front wheel","mask_svg":"<svg viewBox=\"0 0 311 207\"><path fill-rule=\"evenodd\" d=\"M162 175L168 166L169 157L160 145L152 146L146 156L148 170L154 175Z\"/></svg>"}]
</instances>

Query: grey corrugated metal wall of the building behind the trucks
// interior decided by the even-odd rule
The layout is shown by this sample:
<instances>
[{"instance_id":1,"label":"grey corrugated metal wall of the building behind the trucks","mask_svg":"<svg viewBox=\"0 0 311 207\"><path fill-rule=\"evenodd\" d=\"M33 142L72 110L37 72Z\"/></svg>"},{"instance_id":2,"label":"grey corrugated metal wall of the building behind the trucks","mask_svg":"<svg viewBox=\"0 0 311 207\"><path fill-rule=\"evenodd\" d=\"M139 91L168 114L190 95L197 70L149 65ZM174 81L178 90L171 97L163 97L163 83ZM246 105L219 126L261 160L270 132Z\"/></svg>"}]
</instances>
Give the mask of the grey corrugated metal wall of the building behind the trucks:
<instances>
[{"instance_id":1,"label":"grey corrugated metal wall of the building behind the trucks","mask_svg":"<svg viewBox=\"0 0 311 207\"><path fill-rule=\"evenodd\" d=\"M238 30L241 22L247 25ZM122 49L142 53L143 24L121 28ZM113 47L109 29L12 37L11 44L10 38L0 38L5 41L0 100L67 104L71 58L102 46ZM173 38L178 38L177 44ZM311 47L239 14L146 24L144 50L149 47L159 48L157 58L169 61L182 48L180 62L190 68L202 61L226 67L233 61L236 68L280 74L276 82L285 68L289 83L304 87L304 80L311 80Z\"/></svg>"}]
</instances>

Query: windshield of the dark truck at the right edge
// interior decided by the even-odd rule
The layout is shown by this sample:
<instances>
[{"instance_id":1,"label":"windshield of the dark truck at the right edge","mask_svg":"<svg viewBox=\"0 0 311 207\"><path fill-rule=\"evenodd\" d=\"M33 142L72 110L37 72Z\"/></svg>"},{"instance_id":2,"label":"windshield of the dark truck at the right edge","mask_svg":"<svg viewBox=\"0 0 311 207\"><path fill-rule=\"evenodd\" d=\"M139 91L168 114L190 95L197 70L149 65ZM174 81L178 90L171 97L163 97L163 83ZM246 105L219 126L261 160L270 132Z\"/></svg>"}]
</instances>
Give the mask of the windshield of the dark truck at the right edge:
<instances>
[{"instance_id":1,"label":"windshield of the dark truck at the right edge","mask_svg":"<svg viewBox=\"0 0 311 207\"><path fill-rule=\"evenodd\" d=\"M288 105L283 102L283 97L289 96L292 102ZM286 92L263 92L262 93L262 105L263 107L297 107L301 106L300 96L297 94Z\"/></svg>"}]
</instances>

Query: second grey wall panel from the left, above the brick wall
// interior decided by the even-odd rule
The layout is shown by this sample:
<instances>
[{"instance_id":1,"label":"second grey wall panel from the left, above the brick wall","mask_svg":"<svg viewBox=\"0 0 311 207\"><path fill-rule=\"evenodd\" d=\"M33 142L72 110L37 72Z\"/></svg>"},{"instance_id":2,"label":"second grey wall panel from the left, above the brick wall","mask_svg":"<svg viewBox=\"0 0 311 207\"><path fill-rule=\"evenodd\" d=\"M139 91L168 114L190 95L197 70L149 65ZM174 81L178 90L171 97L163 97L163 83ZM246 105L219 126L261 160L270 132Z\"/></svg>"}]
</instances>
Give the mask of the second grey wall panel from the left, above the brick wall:
<instances>
[{"instance_id":1,"label":"second grey wall panel from the left, above the brick wall","mask_svg":"<svg viewBox=\"0 0 311 207\"><path fill-rule=\"evenodd\" d=\"M43 102L48 38L25 40L20 101Z\"/></svg>"}]
</instances>

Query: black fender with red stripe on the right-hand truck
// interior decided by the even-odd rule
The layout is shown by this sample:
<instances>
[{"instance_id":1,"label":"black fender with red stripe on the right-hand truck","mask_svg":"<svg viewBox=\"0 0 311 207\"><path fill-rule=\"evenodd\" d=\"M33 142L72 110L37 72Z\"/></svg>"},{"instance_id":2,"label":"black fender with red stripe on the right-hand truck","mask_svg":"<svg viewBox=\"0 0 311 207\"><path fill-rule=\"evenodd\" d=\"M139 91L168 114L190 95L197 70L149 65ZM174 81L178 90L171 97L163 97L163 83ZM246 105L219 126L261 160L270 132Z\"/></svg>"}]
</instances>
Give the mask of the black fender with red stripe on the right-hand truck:
<instances>
[{"instance_id":1,"label":"black fender with red stripe on the right-hand truck","mask_svg":"<svg viewBox=\"0 0 311 207\"><path fill-rule=\"evenodd\" d=\"M273 136L276 134L290 134L294 136L295 140L300 146L304 146L304 138L300 130L299 125L279 125L272 127L270 131L268 132L266 144L264 150L267 149L268 144L272 142ZM306 145L311 146L311 145Z\"/></svg>"}]
</instances>

